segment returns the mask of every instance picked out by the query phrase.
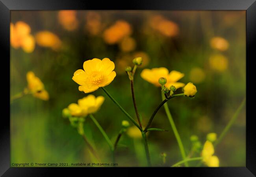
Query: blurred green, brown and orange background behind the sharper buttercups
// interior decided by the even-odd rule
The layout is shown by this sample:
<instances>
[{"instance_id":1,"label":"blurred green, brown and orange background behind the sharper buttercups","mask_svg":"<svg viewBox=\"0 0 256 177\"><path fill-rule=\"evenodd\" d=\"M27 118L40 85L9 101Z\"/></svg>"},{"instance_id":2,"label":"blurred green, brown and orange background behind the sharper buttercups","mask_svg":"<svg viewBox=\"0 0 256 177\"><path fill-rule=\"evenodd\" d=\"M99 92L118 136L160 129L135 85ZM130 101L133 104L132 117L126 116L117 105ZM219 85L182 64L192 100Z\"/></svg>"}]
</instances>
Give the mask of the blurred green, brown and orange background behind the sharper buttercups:
<instances>
[{"instance_id":1,"label":"blurred green, brown and orange background behind the sharper buttercups","mask_svg":"<svg viewBox=\"0 0 256 177\"><path fill-rule=\"evenodd\" d=\"M50 99L27 95L11 103L11 163L93 162L82 136L62 117L63 108L87 95L71 78L88 59L108 57L115 63L117 76L106 89L135 117L125 68L143 58L135 97L144 126L161 102L161 90L140 77L142 69L184 73L180 82L193 82L198 92L169 101L169 108L187 154L191 135L202 144L208 133L220 135L245 98L245 11L11 11L11 23L19 21L30 27L30 39L10 46L11 96L27 87L31 70ZM106 98L95 118L114 142L126 117L103 90L93 94ZM152 164L162 165L163 152L165 166L182 160L163 108L152 127L169 130L148 134ZM84 129L103 162L111 163L108 144L89 118ZM147 164L140 138L126 133L119 144L119 166ZM245 107L215 155L220 166L245 166Z\"/></svg>"}]
</instances>

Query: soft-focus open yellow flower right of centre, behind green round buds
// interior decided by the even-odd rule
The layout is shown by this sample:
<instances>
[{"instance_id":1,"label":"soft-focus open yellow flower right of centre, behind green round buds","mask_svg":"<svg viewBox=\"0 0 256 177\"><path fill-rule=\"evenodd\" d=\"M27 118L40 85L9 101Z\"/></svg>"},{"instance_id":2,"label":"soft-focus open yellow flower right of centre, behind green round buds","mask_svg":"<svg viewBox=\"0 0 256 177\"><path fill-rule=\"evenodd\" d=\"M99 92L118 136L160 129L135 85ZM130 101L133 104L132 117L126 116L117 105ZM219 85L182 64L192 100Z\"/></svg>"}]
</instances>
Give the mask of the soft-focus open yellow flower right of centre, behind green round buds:
<instances>
[{"instance_id":1,"label":"soft-focus open yellow flower right of centre, behind green round buds","mask_svg":"<svg viewBox=\"0 0 256 177\"><path fill-rule=\"evenodd\" d=\"M156 87L161 87L160 83L158 82L160 77L165 77L167 79L167 83L165 86L167 88L171 87L172 85L176 87L176 89L180 87L184 87L184 83L177 82L182 77L184 77L184 74L178 71L171 71L169 73L167 68L161 67L161 68L152 68L150 69L144 69L141 72L141 77L148 81L149 83L154 84Z\"/></svg>"}]
</instances>

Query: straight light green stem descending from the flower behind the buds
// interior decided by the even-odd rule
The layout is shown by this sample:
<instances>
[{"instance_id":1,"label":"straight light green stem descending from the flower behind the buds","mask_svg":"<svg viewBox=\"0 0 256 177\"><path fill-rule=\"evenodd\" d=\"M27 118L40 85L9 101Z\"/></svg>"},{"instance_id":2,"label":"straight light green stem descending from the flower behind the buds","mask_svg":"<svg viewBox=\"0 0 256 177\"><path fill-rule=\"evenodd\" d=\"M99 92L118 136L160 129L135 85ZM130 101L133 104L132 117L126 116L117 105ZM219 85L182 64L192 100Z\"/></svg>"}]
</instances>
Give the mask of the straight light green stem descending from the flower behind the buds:
<instances>
[{"instance_id":1,"label":"straight light green stem descending from the flower behind the buds","mask_svg":"<svg viewBox=\"0 0 256 177\"><path fill-rule=\"evenodd\" d=\"M166 100L163 93L162 93L162 100ZM185 160L185 159L186 159L186 153L185 153L185 150L184 150L182 141L181 141L181 139L180 139L180 135L179 135L179 133L178 133L178 131L177 131L177 129L176 129L176 126L175 126L174 121L173 121L173 117L172 117L172 115L171 115L171 112L170 112L170 110L169 110L169 108L168 108L167 103L164 104L163 107L165 108L165 112L166 112L166 114L167 114L167 117L168 117L169 122L170 122L170 124L171 124L171 127L172 127L172 129L173 129L173 133L174 133L174 135L175 135L175 137L176 137L176 140L177 140L177 142L178 142L178 146L179 146L179 148L180 148L180 153L181 153L181 155L182 155L182 159ZM187 162L185 162L185 166L188 166Z\"/></svg>"}]
</instances>

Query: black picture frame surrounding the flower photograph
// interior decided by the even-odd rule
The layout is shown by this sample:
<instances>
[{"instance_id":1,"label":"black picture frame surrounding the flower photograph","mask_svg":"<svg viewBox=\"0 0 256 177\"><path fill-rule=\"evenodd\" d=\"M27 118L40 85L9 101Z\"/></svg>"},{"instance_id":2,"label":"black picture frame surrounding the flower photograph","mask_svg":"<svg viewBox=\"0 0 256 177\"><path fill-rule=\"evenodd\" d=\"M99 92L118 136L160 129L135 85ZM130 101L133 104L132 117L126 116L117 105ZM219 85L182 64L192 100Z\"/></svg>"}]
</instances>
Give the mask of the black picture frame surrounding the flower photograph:
<instances>
[{"instance_id":1,"label":"black picture frame surrounding the flower photograph","mask_svg":"<svg viewBox=\"0 0 256 177\"><path fill-rule=\"evenodd\" d=\"M223 177L252 177L256 176L256 131L254 128L253 120L255 119L253 114L254 100L254 65L253 60L256 59L255 44L256 44L256 1L255 0L128 0L128 1L92 1L92 0L0 0L0 45L2 58L2 70L1 76L6 80L7 72L4 71L8 66L10 57L10 41L9 41L9 23L10 12L12 10L59 10L59 9L92 9L92 10L245 10L246 11L246 167L234 167L234 168L149 168L147 171L152 170L166 170L167 174L189 174L189 176L223 176ZM6 62L4 64L3 62ZM9 80L10 81L10 80ZM4 81L3 81L4 82ZM7 83L4 82L4 83ZM2 87L4 87L4 83ZM252 87L249 87L249 84ZM2 91L3 96L6 96L9 92L8 87ZM9 92L10 93L10 92ZM8 101L7 101L8 102ZM2 103L5 103L2 100ZM6 103L7 105L7 103ZM7 106L9 107L9 106ZM10 110L10 109L9 109ZM8 109L3 109L2 112L9 112ZM68 175L67 171L71 170L71 174L81 172L86 175L87 171L93 170L96 174L98 168L10 168L10 120L8 116L2 114L0 121L0 175L6 177L14 176L48 176L53 172L57 174ZM252 115L252 116L249 116ZM10 116L9 116L10 117ZM235 148L235 147L234 147ZM102 168L101 168L102 169ZM104 168L104 170L113 170L113 168ZM114 168L114 170L122 171L123 168ZM146 170L142 168L142 170ZM128 174L130 170L125 168L125 174ZM74 173L75 172L75 173ZM91 172L90 172L91 173ZM113 174L113 173L112 173ZM118 174L118 173L115 173ZM120 175L123 176L123 172Z\"/></svg>"}]
</instances>

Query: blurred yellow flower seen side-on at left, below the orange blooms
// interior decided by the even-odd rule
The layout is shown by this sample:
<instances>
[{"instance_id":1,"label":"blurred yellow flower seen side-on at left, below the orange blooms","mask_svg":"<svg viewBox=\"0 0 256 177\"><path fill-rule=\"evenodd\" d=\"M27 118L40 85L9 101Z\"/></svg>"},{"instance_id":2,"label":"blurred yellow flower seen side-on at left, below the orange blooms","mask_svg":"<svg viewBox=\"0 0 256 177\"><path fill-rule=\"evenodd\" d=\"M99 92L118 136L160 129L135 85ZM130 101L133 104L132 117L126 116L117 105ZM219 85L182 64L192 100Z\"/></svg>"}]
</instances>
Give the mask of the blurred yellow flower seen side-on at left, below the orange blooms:
<instances>
[{"instance_id":1,"label":"blurred yellow flower seen side-on at left, below the orange blooms","mask_svg":"<svg viewBox=\"0 0 256 177\"><path fill-rule=\"evenodd\" d=\"M27 81L28 81L28 90L33 94L34 97L39 98L41 100L48 100L49 94L45 90L44 84L42 81L35 76L32 71L27 73Z\"/></svg>"}]
</instances>

